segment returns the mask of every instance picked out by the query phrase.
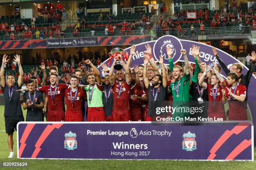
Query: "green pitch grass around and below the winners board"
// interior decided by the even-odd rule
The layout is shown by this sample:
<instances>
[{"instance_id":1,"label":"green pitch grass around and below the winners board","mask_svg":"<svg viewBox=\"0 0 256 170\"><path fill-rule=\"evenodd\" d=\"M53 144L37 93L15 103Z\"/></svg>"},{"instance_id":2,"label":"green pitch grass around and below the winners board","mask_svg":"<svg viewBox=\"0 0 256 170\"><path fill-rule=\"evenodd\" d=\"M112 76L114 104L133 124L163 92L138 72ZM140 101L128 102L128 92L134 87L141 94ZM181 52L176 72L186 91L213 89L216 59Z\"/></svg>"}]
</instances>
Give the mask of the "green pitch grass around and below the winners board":
<instances>
[{"instance_id":1,"label":"green pitch grass around and below the winners board","mask_svg":"<svg viewBox=\"0 0 256 170\"><path fill-rule=\"evenodd\" d=\"M16 132L14 138L14 154L16 158L8 159L9 149L7 134L5 133L4 106L0 105L0 170L14 169L4 168L4 162L26 162L27 167L19 167L17 170L255 170L256 161L178 161L178 160L29 160L17 159ZM23 111L26 117L26 111ZM256 148L254 148L254 160L256 160ZM16 168L15 168L16 169Z\"/></svg>"}]
</instances>

